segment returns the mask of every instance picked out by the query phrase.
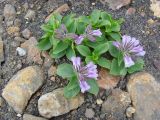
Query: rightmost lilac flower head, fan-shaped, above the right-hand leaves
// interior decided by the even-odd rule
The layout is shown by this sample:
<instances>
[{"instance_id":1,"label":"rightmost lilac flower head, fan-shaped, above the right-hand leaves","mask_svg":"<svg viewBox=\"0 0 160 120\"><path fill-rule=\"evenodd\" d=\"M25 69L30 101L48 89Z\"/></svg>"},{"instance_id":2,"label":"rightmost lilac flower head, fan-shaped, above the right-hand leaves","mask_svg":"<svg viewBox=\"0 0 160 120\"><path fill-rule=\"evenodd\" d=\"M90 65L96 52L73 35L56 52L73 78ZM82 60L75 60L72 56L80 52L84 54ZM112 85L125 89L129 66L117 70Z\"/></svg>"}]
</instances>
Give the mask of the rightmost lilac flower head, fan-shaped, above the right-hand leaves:
<instances>
[{"instance_id":1,"label":"rightmost lilac flower head, fan-shaped, above the right-hand leaves","mask_svg":"<svg viewBox=\"0 0 160 120\"><path fill-rule=\"evenodd\" d=\"M123 52L123 59L125 67L131 67L134 65L132 56L144 56L145 51L140 45L139 40L134 37L124 35L122 37L122 42L113 42L113 45Z\"/></svg>"}]
</instances>

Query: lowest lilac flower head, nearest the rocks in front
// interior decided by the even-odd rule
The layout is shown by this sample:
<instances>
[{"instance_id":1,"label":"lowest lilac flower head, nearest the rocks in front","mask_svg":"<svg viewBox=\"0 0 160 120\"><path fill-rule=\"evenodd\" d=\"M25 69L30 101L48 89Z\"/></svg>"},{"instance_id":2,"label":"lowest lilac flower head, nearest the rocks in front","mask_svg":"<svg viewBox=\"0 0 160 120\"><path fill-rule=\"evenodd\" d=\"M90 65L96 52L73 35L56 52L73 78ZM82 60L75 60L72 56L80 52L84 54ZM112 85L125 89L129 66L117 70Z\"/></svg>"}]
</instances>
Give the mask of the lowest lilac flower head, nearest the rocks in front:
<instances>
[{"instance_id":1,"label":"lowest lilac flower head, nearest the rocks in front","mask_svg":"<svg viewBox=\"0 0 160 120\"><path fill-rule=\"evenodd\" d=\"M84 93L90 89L90 85L87 83L88 79L97 79L97 66L92 62L88 63L86 66L81 64L80 57L71 58L75 71L77 72L77 77L79 80L79 86L81 92Z\"/></svg>"}]
</instances>

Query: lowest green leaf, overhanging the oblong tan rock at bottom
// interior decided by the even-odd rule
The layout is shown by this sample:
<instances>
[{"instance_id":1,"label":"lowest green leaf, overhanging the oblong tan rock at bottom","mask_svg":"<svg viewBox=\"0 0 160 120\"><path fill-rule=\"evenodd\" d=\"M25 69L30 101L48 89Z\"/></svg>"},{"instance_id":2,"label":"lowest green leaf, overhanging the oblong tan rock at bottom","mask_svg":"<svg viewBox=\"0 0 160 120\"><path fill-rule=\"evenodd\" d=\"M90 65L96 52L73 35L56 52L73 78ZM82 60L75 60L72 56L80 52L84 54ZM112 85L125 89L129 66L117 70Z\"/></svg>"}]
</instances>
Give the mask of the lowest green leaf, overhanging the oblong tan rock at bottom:
<instances>
[{"instance_id":1,"label":"lowest green leaf, overhanging the oblong tan rock at bottom","mask_svg":"<svg viewBox=\"0 0 160 120\"><path fill-rule=\"evenodd\" d=\"M72 98L75 97L79 92L80 92L80 87L78 80L75 77L73 77L69 81L69 84L64 88L64 96L66 98Z\"/></svg>"}]
</instances>

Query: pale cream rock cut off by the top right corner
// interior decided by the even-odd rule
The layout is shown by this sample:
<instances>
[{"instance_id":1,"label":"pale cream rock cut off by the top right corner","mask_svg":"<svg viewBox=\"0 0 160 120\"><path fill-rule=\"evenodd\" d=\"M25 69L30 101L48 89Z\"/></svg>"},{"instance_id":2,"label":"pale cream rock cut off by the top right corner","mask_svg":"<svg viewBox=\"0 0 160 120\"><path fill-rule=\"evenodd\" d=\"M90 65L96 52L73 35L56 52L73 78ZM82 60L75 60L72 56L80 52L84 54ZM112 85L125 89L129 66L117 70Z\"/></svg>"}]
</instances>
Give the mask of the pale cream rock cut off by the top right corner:
<instances>
[{"instance_id":1,"label":"pale cream rock cut off by the top right corner","mask_svg":"<svg viewBox=\"0 0 160 120\"><path fill-rule=\"evenodd\" d=\"M150 9L154 12L154 16L160 17L160 1L151 0Z\"/></svg>"}]
</instances>

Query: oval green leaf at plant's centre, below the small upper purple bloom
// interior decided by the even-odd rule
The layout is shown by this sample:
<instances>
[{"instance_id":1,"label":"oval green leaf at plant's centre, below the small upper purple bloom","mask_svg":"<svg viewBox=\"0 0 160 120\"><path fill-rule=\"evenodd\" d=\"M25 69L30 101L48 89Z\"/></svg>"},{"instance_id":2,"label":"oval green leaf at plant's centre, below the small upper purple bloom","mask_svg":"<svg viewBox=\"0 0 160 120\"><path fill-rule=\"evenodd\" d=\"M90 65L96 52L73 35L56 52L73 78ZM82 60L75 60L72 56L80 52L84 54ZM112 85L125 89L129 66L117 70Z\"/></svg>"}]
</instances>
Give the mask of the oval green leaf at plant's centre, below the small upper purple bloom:
<instances>
[{"instance_id":1,"label":"oval green leaf at plant's centre, below the small upper purple bloom","mask_svg":"<svg viewBox=\"0 0 160 120\"><path fill-rule=\"evenodd\" d=\"M78 45L77 50L82 56L90 56L91 55L91 51L87 46Z\"/></svg>"}]
</instances>

